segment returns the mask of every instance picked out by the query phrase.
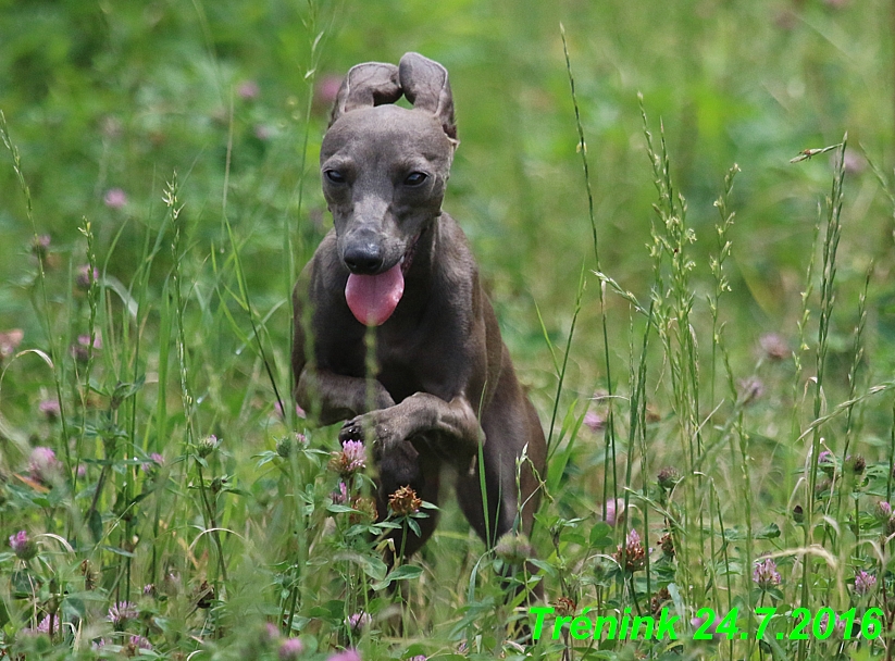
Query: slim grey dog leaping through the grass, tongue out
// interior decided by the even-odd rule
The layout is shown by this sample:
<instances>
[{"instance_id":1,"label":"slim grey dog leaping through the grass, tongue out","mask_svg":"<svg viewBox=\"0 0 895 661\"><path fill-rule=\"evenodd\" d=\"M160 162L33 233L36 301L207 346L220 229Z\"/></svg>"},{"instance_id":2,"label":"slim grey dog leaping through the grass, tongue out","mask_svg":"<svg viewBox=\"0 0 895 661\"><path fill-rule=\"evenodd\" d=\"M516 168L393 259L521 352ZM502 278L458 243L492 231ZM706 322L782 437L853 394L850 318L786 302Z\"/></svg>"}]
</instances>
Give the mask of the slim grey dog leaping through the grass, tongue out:
<instances>
[{"instance_id":1,"label":"slim grey dog leaping through the grass, tongue out","mask_svg":"<svg viewBox=\"0 0 895 661\"><path fill-rule=\"evenodd\" d=\"M467 238L442 211L458 145L437 62L407 53L348 72L320 154L334 229L296 285L293 370L301 407L372 446L381 516L401 486L437 503L449 463L463 513L494 545L531 532L546 444ZM408 556L436 521L420 523Z\"/></svg>"}]
</instances>

